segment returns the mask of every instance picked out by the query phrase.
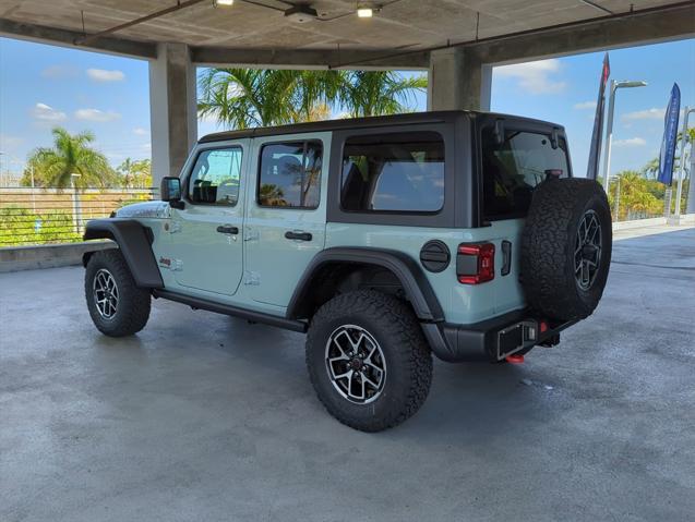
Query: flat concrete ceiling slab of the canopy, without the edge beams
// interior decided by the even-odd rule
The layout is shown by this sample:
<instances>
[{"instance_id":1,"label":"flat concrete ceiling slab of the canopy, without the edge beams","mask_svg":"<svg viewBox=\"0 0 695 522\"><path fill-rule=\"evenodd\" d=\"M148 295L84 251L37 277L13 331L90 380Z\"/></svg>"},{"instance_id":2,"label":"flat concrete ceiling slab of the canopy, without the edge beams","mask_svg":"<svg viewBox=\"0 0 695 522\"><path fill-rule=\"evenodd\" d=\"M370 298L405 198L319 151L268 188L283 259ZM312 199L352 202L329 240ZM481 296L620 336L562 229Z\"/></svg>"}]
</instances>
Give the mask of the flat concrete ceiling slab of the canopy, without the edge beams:
<instances>
[{"instance_id":1,"label":"flat concrete ceiling slab of the canopy, without the edge beams","mask_svg":"<svg viewBox=\"0 0 695 522\"><path fill-rule=\"evenodd\" d=\"M237 0L232 7L203 1L180 11L119 31L113 36L137 41L179 41L191 46L236 49L398 50L426 49L451 41L519 33L606 16L607 11L582 0L383 0L371 20L358 19L356 1L308 3L319 20L297 23L281 10L290 2ZM679 3L669 0L594 0L609 12ZM261 7L264 4L266 7ZM40 26L98 33L155 11L176 0L0 0L0 17ZM274 8L274 9L273 9ZM480 17L478 21L478 13Z\"/></svg>"}]
</instances>

